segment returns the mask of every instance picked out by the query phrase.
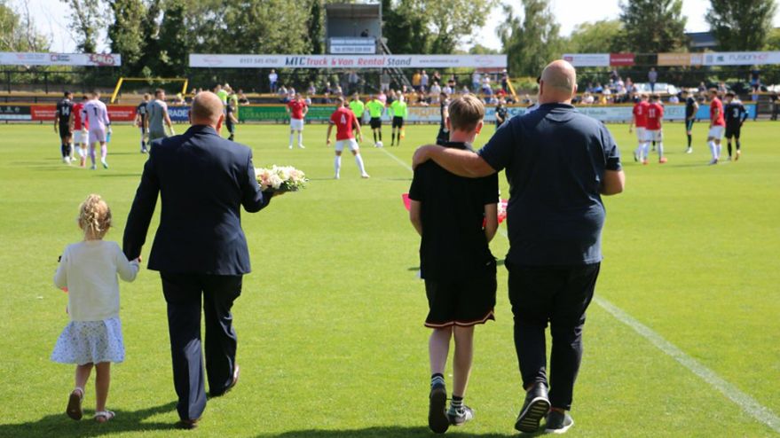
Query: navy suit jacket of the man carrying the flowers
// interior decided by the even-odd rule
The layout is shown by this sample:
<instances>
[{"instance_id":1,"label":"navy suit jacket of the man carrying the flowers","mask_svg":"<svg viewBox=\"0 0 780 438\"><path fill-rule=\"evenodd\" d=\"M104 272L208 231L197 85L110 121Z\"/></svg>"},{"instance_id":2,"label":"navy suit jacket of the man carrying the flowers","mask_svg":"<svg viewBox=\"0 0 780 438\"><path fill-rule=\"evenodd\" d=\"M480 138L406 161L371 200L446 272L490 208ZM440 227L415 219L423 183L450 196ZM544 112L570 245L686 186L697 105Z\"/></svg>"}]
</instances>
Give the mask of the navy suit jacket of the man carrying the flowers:
<instances>
[{"instance_id":1,"label":"navy suit jacket of the man carrying the flowers","mask_svg":"<svg viewBox=\"0 0 780 438\"><path fill-rule=\"evenodd\" d=\"M241 275L250 271L240 207L268 205L255 179L252 151L209 126L154 141L130 208L123 249L141 254L157 195L162 198L149 269L173 273Z\"/></svg>"}]
</instances>

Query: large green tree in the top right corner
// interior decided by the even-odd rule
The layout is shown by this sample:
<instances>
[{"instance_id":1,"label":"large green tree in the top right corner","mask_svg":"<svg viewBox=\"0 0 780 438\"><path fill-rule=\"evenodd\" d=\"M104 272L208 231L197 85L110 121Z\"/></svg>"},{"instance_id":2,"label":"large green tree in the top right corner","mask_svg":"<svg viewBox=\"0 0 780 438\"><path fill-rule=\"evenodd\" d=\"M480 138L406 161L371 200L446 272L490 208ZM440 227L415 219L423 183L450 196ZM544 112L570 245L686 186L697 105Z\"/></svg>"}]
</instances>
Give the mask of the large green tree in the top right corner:
<instances>
[{"instance_id":1,"label":"large green tree in the top right corner","mask_svg":"<svg viewBox=\"0 0 780 438\"><path fill-rule=\"evenodd\" d=\"M711 0L706 20L721 51L760 51L772 30L775 0Z\"/></svg>"}]
</instances>

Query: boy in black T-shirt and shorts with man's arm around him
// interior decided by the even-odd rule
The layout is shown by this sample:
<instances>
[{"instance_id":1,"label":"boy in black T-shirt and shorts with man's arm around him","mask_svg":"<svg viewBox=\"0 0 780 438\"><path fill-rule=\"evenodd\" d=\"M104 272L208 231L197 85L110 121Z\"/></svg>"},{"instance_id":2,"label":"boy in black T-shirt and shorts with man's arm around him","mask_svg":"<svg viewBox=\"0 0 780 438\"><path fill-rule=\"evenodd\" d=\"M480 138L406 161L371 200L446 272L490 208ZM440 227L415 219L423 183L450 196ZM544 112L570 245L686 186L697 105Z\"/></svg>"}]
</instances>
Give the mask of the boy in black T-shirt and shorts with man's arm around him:
<instances>
[{"instance_id":1,"label":"boy in black T-shirt and shorts with man's arm around him","mask_svg":"<svg viewBox=\"0 0 780 438\"><path fill-rule=\"evenodd\" d=\"M448 148L472 151L483 127L485 106L473 95L453 100L446 120ZM494 319L496 262L488 242L498 228L497 174L455 176L428 161L414 170L409 218L420 233L420 263L429 314L430 395L428 426L442 434L474 418L463 404L471 372L474 326ZM453 395L446 407L445 365L454 337Z\"/></svg>"}]
</instances>

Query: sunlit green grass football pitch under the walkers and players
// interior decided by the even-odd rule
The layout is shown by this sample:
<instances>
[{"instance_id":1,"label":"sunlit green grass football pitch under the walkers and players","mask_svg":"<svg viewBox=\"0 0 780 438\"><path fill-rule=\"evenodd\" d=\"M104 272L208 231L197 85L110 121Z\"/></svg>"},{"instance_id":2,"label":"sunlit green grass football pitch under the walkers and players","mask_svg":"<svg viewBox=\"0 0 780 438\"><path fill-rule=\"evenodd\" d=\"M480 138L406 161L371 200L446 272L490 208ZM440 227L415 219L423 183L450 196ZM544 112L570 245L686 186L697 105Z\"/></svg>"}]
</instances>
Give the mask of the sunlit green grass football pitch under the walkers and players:
<instances>
[{"instance_id":1,"label":"sunlit green grass football pitch under the walkers and players","mask_svg":"<svg viewBox=\"0 0 780 438\"><path fill-rule=\"evenodd\" d=\"M367 141L363 149L371 179L360 179L345 154L335 181L324 125L306 127L305 150L288 150L286 126L238 127L237 140L254 149L256 166L293 165L311 184L242 216L254 272L234 308L241 380L209 402L198 430L185 433L172 428L176 396L155 272L142 270L135 283L121 285L127 359L113 370L112 422L91 420L93 379L87 417L67 418L73 367L49 360L67 324L66 295L51 282L57 257L81 239L75 216L91 192L113 209L106 239L122 239L145 160L138 130L115 127L111 167L91 171L60 162L48 124L0 126L0 436L429 436L427 304L415 278L419 239L401 202L412 174L390 155L409 163L436 130L409 126L403 145L390 148L385 126L384 149ZM634 163L634 136L626 125L611 130L624 157L626 192L605 199L596 294L777 415L780 125L748 122L742 159L718 166L706 166L705 123L697 123L689 155L682 124L666 125L665 165ZM485 127L477 146L492 131ZM507 249L497 235L493 254L503 259ZM500 270L497 321L477 328L466 397L476 418L448 434L514 434L523 395L506 281ZM596 303L585 348L569 436L776 436Z\"/></svg>"}]
</instances>

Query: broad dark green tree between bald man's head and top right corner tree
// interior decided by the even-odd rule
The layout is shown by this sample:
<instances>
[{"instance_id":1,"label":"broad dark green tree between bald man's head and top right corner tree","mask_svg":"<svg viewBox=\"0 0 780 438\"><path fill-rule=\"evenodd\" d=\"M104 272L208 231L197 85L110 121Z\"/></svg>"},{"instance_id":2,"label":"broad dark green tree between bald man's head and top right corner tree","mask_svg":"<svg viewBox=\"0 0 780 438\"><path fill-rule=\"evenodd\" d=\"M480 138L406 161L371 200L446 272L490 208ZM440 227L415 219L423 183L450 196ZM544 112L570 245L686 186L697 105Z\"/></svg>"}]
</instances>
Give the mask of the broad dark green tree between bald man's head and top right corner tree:
<instances>
[{"instance_id":1,"label":"broad dark green tree between bald man's head and top right corner tree","mask_svg":"<svg viewBox=\"0 0 780 438\"><path fill-rule=\"evenodd\" d=\"M685 46L682 0L620 2L624 44L637 53L677 51Z\"/></svg>"}]
</instances>

